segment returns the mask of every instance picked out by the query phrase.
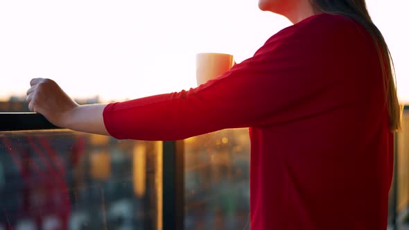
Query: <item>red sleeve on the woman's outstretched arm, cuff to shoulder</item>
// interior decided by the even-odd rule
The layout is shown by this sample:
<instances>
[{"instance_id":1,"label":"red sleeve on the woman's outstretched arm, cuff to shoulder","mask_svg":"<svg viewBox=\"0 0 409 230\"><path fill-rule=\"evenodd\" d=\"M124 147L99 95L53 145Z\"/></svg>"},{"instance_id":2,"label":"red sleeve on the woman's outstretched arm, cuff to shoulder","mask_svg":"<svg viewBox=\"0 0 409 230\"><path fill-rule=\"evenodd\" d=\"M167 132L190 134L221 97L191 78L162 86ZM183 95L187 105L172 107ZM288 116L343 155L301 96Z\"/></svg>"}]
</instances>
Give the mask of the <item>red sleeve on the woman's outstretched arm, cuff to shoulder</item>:
<instances>
[{"instance_id":1,"label":"red sleeve on the woman's outstretched arm, cuff to shoulder","mask_svg":"<svg viewBox=\"0 0 409 230\"><path fill-rule=\"evenodd\" d=\"M342 60L349 55L342 44L348 42L345 30L353 28L338 26L323 35L333 24L302 26L281 30L253 57L195 89L107 105L107 131L116 139L177 140L225 128L284 123L346 103L350 98L343 97L345 87L340 87L345 71L331 73L337 60L328 57ZM340 94L339 100L325 103L322 98L329 90Z\"/></svg>"}]
</instances>

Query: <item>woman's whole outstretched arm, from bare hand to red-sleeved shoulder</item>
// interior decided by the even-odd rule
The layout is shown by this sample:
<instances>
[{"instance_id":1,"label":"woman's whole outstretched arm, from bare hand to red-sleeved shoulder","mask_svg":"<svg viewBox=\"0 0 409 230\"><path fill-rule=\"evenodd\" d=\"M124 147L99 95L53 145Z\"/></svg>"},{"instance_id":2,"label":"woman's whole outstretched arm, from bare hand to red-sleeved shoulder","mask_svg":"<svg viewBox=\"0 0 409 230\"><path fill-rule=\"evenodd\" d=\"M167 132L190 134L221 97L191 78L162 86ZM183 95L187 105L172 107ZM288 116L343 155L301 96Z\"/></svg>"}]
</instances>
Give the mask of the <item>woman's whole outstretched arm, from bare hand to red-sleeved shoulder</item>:
<instances>
[{"instance_id":1,"label":"woman's whole outstretched arm, from bare hand to red-sleeved shoulder","mask_svg":"<svg viewBox=\"0 0 409 230\"><path fill-rule=\"evenodd\" d=\"M282 30L250 59L189 91L79 106L52 80L34 79L30 109L61 127L141 140L317 116L357 103L367 84L356 68L367 57L365 39L357 39L360 33L344 19L321 24Z\"/></svg>"}]
</instances>

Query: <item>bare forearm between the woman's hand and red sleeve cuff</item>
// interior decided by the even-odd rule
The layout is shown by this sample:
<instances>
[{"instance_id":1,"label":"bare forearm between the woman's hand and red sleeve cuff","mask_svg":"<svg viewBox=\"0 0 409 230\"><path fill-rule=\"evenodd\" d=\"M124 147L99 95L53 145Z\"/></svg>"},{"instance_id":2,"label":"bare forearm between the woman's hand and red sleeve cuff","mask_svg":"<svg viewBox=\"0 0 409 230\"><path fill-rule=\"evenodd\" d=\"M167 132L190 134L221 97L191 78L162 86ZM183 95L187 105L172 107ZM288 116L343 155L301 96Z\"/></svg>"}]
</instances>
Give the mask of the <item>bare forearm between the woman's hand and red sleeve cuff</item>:
<instances>
[{"instance_id":1,"label":"bare forearm between the woman's hand and red sleeve cuff","mask_svg":"<svg viewBox=\"0 0 409 230\"><path fill-rule=\"evenodd\" d=\"M61 118L61 126L70 130L109 135L103 121L106 104L78 105Z\"/></svg>"}]
</instances>

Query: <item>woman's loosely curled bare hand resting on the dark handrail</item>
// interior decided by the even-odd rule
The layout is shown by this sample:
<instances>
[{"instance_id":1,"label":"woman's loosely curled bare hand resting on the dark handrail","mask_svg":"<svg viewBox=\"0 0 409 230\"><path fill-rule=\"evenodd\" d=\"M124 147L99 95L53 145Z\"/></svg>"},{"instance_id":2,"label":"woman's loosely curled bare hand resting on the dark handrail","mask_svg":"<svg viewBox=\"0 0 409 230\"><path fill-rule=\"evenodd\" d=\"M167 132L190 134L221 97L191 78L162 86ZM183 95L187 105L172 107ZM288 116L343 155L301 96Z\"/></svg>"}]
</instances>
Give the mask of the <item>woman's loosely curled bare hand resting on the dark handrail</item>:
<instances>
[{"instance_id":1,"label":"woman's loosely curled bare hand resting on the dark handrail","mask_svg":"<svg viewBox=\"0 0 409 230\"><path fill-rule=\"evenodd\" d=\"M67 127L67 121L79 105L73 101L53 80L34 78L27 91L28 109L42 114L54 125Z\"/></svg>"}]
</instances>

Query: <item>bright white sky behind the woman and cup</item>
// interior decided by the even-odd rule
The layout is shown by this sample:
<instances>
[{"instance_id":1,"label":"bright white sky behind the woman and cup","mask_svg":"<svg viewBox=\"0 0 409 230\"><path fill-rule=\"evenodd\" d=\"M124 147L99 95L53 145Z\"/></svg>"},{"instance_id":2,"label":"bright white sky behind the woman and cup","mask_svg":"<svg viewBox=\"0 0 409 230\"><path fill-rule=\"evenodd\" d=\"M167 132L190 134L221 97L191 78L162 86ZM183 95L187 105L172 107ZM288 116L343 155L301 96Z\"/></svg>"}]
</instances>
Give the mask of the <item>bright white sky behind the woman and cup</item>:
<instances>
[{"instance_id":1,"label":"bright white sky behind the woman and cup","mask_svg":"<svg viewBox=\"0 0 409 230\"><path fill-rule=\"evenodd\" d=\"M367 0L409 103L407 0ZM0 0L0 100L51 78L74 98L125 100L196 86L195 54L251 57L286 18L256 0Z\"/></svg>"}]
</instances>

